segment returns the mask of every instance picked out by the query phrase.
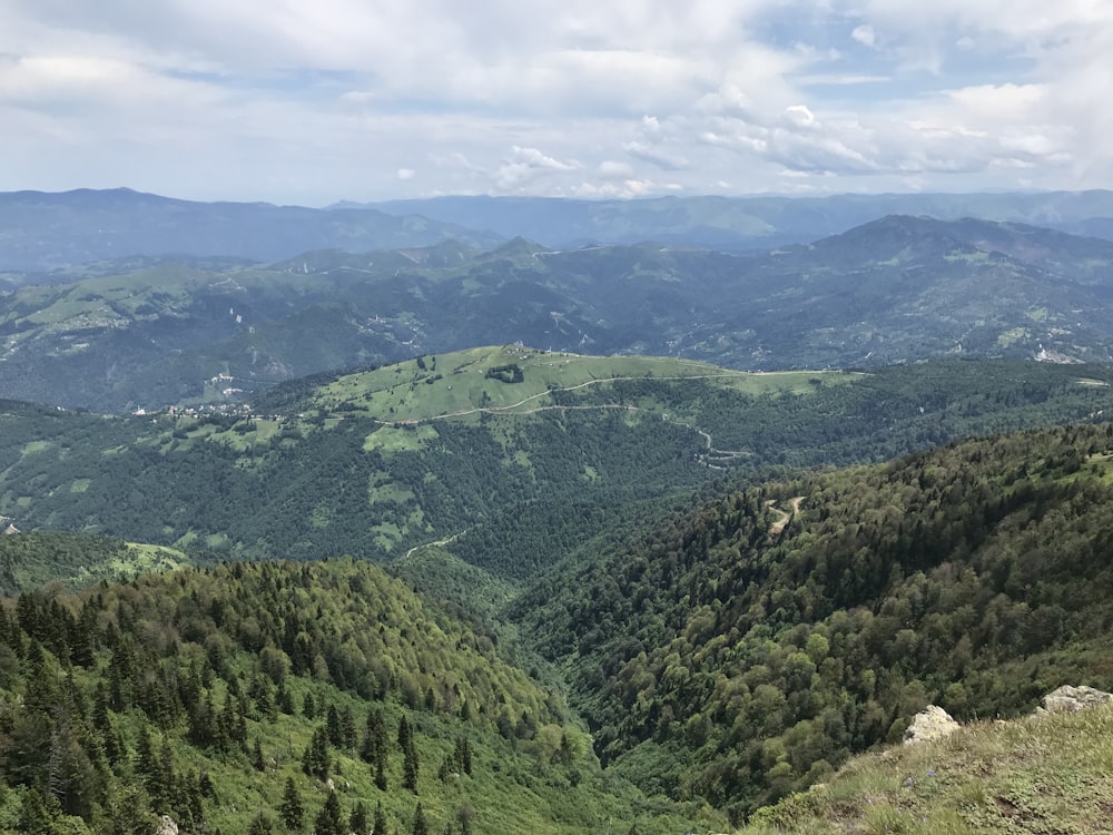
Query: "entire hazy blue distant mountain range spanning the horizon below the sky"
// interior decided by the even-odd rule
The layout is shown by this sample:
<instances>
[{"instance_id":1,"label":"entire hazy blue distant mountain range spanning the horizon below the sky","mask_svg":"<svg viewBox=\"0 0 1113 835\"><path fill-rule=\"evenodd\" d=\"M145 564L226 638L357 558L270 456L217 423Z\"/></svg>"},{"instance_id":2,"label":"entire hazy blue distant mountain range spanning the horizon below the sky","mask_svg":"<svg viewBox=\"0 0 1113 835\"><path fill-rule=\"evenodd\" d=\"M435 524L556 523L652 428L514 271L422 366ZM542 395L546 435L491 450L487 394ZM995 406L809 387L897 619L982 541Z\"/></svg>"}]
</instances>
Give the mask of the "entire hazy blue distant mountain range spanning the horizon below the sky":
<instances>
[{"instance_id":1,"label":"entire hazy blue distant mountain range spanning the horizon below the sky","mask_svg":"<svg viewBox=\"0 0 1113 835\"><path fill-rule=\"evenodd\" d=\"M127 188L14 191L0 193L0 282L67 281L76 265L137 255L269 262L311 249L363 253L449 238L481 248L524 237L550 248L656 242L743 252L807 243L886 215L977 217L1113 239L1113 191L1097 190L638 200L461 196L327 209L196 203Z\"/></svg>"}]
</instances>

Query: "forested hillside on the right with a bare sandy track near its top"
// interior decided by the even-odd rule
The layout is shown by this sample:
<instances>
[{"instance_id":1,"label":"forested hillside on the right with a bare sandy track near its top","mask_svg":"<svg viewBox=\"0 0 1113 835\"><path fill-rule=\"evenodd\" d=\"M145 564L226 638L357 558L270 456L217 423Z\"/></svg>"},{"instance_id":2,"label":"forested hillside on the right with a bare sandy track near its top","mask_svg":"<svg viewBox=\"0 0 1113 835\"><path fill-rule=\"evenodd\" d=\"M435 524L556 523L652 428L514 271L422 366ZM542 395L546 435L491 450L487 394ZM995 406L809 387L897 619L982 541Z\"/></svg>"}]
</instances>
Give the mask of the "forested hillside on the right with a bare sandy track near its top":
<instances>
[{"instance_id":1,"label":"forested hillside on the right with a bare sandy track near its top","mask_svg":"<svg viewBox=\"0 0 1113 835\"><path fill-rule=\"evenodd\" d=\"M514 607L613 770L741 819L936 703L1113 684L1113 430L953 443L713 498Z\"/></svg>"}]
</instances>

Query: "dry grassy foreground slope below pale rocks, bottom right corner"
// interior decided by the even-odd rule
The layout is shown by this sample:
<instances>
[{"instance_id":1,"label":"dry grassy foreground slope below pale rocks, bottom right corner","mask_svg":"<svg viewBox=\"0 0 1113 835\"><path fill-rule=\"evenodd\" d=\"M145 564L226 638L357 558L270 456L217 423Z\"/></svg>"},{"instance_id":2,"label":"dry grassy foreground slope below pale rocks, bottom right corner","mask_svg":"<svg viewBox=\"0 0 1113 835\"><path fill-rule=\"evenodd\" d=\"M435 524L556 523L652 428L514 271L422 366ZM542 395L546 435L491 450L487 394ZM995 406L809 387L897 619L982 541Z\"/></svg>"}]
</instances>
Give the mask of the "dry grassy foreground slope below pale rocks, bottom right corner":
<instances>
[{"instance_id":1,"label":"dry grassy foreground slope below pale rocks, bottom right corner","mask_svg":"<svg viewBox=\"0 0 1113 835\"><path fill-rule=\"evenodd\" d=\"M1113 708L981 721L857 757L742 835L1083 833L1109 827Z\"/></svg>"}]
</instances>

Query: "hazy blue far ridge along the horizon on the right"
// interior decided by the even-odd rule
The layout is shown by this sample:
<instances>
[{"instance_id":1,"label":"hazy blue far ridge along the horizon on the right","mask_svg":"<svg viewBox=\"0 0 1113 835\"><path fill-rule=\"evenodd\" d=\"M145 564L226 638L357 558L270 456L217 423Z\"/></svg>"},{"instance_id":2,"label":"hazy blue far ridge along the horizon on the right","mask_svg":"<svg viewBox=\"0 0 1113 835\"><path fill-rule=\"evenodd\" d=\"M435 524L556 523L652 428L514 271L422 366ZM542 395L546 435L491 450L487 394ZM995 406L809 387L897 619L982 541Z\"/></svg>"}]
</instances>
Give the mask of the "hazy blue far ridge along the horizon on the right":
<instances>
[{"instance_id":1,"label":"hazy blue far ridge along the horizon on the right","mask_svg":"<svg viewBox=\"0 0 1113 835\"><path fill-rule=\"evenodd\" d=\"M522 236L551 247L654 240L709 249L767 249L837 235L885 215L1050 226L1113 239L1113 193L888 194L829 197L653 197L575 200L450 196L337 204Z\"/></svg>"}]
</instances>

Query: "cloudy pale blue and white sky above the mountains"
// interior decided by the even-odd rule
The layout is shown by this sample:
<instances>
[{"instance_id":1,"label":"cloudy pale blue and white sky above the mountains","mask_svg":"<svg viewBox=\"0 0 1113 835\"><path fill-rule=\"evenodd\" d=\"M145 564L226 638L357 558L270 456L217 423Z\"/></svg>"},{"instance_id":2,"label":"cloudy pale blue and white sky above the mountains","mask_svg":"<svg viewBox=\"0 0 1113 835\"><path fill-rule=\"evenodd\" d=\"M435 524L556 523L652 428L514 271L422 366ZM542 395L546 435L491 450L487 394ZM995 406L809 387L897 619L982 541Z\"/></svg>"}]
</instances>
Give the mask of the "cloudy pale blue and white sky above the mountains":
<instances>
[{"instance_id":1,"label":"cloudy pale blue and white sky above the mountains","mask_svg":"<svg viewBox=\"0 0 1113 835\"><path fill-rule=\"evenodd\" d=\"M1113 187L1113 0L0 0L0 190Z\"/></svg>"}]
</instances>

